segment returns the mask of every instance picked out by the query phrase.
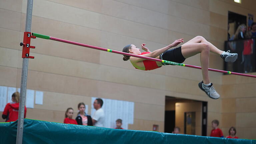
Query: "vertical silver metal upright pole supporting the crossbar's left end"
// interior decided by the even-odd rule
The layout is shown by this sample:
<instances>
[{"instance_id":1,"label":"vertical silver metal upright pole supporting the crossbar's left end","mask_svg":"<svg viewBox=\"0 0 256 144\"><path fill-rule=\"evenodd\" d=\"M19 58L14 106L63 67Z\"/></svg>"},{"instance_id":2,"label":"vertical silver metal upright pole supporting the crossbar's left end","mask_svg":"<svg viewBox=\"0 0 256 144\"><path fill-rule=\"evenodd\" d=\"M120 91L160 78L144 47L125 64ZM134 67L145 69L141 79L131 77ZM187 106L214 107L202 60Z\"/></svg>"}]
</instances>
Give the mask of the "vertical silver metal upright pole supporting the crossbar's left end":
<instances>
[{"instance_id":1,"label":"vertical silver metal upright pole supporting the crossbar's left end","mask_svg":"<svg viewBox=\"0 0 256 144\"><path fill-rule=\"evenodd\" d=\"M25 32L31 31L32 8L33 8L33 0L28 0L27 1L27 15L26 15ZM26 89L27 89L27 75L28 75L28 58L23 58L16 144L22 144L22 138L23 138L23 124L24 124L24 110L25 110Z\"/></svg>"}]
</instances>

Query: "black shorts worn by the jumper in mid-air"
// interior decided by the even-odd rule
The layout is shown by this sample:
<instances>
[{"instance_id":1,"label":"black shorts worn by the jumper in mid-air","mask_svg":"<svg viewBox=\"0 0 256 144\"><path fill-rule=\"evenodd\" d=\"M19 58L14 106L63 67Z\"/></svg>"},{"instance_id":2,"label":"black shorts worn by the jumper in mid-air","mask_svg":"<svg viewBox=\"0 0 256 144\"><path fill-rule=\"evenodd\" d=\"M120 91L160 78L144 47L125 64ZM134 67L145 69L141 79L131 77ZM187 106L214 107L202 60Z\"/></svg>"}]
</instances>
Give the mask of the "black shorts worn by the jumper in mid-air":
<instances>
[{"instance_id":1,"label":"black shorts worn by the jumper in mid-air","mask_svg":"<svg viewBox=\"0 0 256 144\"><path fill-rule=\"evenodd\" d=\"M177 47L175 49L167 50L164 53L160 54L161 60L167 60L172 61L176 63L183 63L185 61L184 56L181 53L181 46ZM163 65L172 65L172 64L166 64L162 63Z\"/></svg>"}]
</instances>

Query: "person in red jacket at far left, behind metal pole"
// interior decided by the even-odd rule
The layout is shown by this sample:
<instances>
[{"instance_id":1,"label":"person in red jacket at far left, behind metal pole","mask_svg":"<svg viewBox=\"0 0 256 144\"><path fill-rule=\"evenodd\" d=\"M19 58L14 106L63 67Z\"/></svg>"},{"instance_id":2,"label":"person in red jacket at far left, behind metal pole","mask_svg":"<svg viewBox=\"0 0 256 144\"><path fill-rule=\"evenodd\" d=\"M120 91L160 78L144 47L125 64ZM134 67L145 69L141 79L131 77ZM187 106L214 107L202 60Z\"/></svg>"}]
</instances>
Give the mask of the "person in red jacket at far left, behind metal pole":
<instances>
[{"instance_id":1,"label":"person in red jacket at far left, behind metal pole","mask_svg":"<svg viewBox=\"0 0 256 144\"><path fill-rule=\"evenodd\" d=\"M20 93L19 92L13 93L12 102L6 104L2 114L2 118L6 119L5 122L16 121L18 119L19 101L20 101ZM27 108L25 106L24 118L26 118L26 113L27 113Z\"/></svg>"}]
</instances>

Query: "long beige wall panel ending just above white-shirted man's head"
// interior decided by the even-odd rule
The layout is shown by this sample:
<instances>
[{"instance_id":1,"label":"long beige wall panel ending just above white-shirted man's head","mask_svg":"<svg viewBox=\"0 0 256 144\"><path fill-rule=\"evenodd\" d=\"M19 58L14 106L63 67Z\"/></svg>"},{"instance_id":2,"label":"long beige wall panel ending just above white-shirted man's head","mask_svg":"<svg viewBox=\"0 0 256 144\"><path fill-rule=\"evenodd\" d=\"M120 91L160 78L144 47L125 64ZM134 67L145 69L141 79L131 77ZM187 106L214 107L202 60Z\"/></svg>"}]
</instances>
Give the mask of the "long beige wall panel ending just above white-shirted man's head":
<instances>
[{"instance_id":1,"label":"long beige wall panel ending just above white-shirted man's head","mask_svg":"<svg viewBox=\"0 0 256 144\"><path fill-rule=\"evenodd\" d=\"M17 87L20 87L21 69ZM97 81L50 73L28 71L27 88L41 91L98 97Z\"/></svg>"}]
</instances>

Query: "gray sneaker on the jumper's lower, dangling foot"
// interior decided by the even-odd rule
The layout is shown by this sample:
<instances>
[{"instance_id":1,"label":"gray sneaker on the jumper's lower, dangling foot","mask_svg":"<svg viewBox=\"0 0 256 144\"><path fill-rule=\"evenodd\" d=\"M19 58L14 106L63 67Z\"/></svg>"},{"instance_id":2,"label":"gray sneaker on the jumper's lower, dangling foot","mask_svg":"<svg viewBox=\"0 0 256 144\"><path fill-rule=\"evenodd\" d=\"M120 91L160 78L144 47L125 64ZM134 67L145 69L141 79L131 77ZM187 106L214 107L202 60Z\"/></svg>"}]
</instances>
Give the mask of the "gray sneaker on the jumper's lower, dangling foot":
<instances>
[{"instance_id":1,"label":"gray sneaker on the jumper's lower, dangling foot","mask_svg":"<svg viewBox=\"0 0 256 144\"><path fill-rule=\"evenodd\" d=\"M215 88L212 86L213 84L211 83L210 86L205 86L203 81L198 83L199 88L204 91L210 98L212 99L218 99L220 98L220 95L216 92Z\"/></svg>"}]
</instances>

